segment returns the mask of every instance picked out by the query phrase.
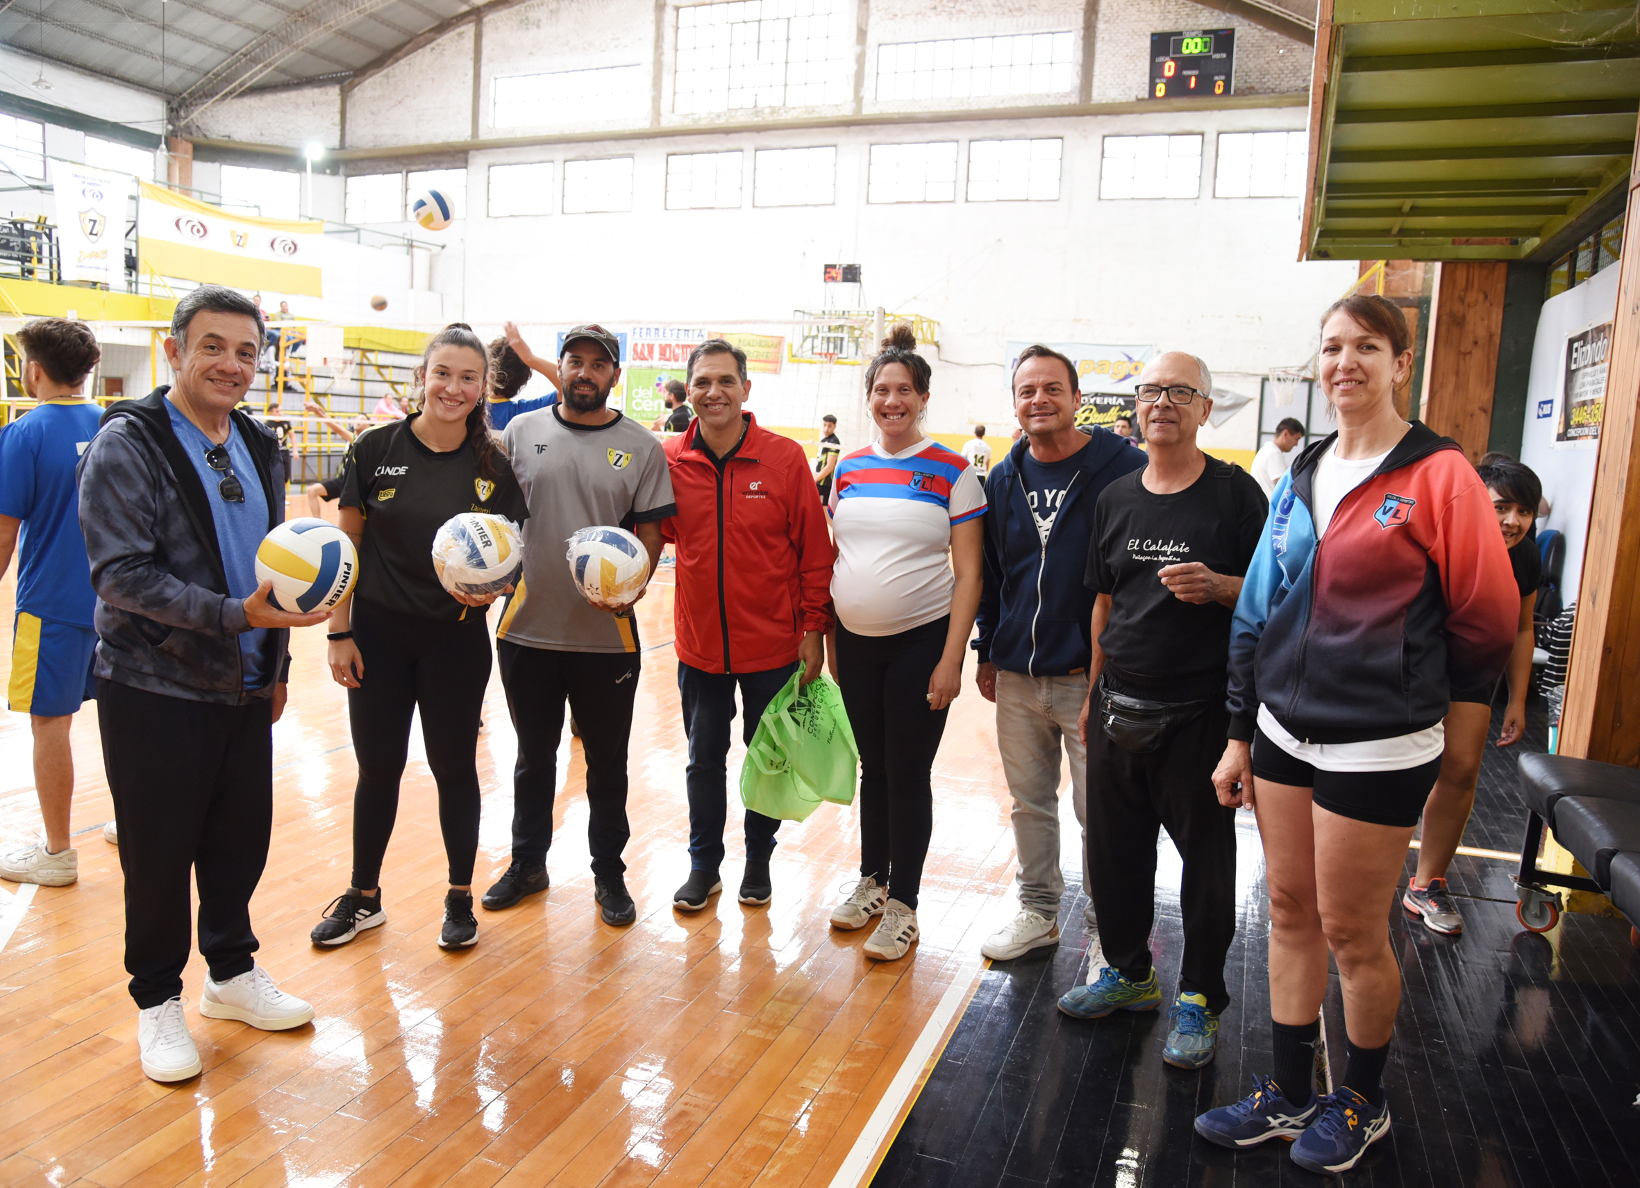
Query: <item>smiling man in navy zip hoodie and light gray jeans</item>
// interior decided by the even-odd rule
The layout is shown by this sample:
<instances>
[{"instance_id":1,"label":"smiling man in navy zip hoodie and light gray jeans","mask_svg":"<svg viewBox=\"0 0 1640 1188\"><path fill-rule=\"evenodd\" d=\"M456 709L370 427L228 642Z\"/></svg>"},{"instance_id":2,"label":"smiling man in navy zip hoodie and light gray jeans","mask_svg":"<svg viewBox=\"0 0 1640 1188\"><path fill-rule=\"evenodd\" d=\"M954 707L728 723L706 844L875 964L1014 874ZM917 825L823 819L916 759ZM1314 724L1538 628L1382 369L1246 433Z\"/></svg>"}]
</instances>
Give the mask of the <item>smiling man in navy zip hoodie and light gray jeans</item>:
<instances>
[{"instance_id":1,"label":"smiling man in navy zip hoodie and light gray jeans","mask_svg":"<svg viewBox=\"0 0 1640 1188\"><path fill-rule=\"evenodd\" d=\"M979 692L997 706L997 752L1014 796L1020 911L979 947L1005 962L1059 940L1061 745L1076 819L1087 822L1087 748L1076 719L1087 701L1094 594L1082 584L1094 504L1145 453L1115 433L1076 428L1076 368L1027 346L1014 368L1023 436L986 481L986 587L979 599ZM1086 847L1084 847L1086 853ZM1084 863L1086 884L1086 863ZM1094 929L1092 907L1084 912Z\"/></svg>"}]
</instances>

